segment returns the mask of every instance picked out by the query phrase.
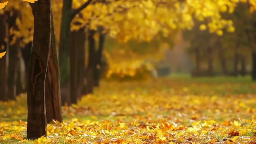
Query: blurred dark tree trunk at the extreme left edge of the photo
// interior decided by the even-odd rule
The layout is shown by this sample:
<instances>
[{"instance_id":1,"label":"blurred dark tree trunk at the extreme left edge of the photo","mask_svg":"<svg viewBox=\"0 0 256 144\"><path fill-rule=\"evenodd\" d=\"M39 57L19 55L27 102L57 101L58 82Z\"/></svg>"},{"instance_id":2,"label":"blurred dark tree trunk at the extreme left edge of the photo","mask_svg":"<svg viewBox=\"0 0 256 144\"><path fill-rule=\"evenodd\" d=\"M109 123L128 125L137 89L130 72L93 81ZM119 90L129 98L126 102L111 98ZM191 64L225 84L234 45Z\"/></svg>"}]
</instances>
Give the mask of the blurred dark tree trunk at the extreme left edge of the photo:
<instances>
[{"instance_id":1,"label":"blurred dark tree trunk at the extreme left edge of the photo","mask_svg":"<svg viewBox=\"0 0 256 144\"><path fill-rule=\"evenodd\" d=\"M0 15L0 53L1 52L6 52L7 45L5 42L5 35L6 35L6 15L2 14ZM8 101L8 87L7 87L7 77L8 77L8 69L7 69L7 54L5 54L1 59L0 59L0 101Z\"/></svg>"}]
</instances>

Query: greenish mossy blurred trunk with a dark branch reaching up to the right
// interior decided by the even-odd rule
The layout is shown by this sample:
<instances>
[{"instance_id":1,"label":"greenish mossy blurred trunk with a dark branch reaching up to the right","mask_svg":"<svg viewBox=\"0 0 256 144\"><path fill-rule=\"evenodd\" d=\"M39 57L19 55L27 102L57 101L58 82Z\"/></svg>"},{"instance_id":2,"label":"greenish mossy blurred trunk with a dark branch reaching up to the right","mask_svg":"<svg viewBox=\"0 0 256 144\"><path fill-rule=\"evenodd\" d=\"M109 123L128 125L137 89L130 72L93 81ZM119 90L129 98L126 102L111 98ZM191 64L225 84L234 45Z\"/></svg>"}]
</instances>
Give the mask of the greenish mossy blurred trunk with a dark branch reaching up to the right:
<instances>
[{"instance_id":1,"label":"greenish mossy blurred trunk with a dark branch reaching up to the right","mask_svg":"<svg viewBox=\"0 0 256 144\"><path fill-rule=\"evenodd\" d=\"M62 88L69 88L70 74L70 23L72 21L72 0L63 0L62 19L60 28L60 41L59 41L59 68L60 68L60 84ZM62 90L65 91L65 90ZM64 101L70 105L69 93L61 94L64 96Z\"/></svg>"}]
</instances>

